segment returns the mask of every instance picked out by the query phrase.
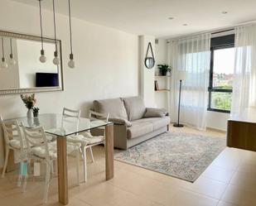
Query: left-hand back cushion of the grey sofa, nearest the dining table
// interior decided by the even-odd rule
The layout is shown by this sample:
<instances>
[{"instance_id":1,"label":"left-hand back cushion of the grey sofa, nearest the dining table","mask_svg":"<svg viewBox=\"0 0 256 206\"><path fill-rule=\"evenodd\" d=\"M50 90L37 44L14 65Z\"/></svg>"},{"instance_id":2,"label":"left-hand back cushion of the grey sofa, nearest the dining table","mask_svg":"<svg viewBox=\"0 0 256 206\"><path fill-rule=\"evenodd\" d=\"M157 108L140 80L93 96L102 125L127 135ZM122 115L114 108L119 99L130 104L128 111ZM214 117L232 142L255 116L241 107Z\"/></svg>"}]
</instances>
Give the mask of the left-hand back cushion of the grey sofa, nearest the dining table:
<instances>
[{"instance_id":1,"label":"left-hand back cushion of the grey sofa, nearest the dining table","mask_svg":"<svg viewBox=\"0 0 256 206\"><path fill-rule=\"evenodd\" d=\"M121 98L94 100L94 110L97 113L109 113L109 117L128 119Z\"/></svg>"}]
</instances>

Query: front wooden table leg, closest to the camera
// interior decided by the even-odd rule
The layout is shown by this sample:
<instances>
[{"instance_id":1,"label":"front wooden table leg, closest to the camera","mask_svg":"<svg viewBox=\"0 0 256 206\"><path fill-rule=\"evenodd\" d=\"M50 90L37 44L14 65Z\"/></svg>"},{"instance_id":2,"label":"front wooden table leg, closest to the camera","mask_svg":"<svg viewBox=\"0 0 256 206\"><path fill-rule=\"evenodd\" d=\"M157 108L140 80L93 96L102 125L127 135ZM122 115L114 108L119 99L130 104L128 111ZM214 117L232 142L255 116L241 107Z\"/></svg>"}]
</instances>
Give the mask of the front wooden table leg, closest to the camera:
<instances>
[{"instance_id":1,"label":"front wooden table leg, closest to the camera","mask_svg":"<svg viewBox=\"0 0 256 206\"><path fill-rule=\"evenodd\" d=\"M60 204L68 204L68 172L67 172L66 137L57 137L58 191Z\"/></svg>"}]
</instances>

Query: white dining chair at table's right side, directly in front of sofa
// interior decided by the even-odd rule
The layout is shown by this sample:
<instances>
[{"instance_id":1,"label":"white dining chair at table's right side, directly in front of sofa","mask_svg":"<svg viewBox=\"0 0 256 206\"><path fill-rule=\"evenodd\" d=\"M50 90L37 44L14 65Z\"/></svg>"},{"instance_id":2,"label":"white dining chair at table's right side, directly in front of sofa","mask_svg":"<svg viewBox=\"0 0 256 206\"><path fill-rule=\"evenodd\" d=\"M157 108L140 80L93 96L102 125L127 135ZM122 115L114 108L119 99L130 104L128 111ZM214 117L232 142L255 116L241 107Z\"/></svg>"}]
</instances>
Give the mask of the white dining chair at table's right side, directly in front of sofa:
<instances>
[{"instance_id":1,"label":"white dining chair at table's right side, directly in front of sofa","mask_svg":"<svg viewBox=\"0 0 256 206\"><path fill-rule=\"evenodd\" d=\"M89 118L90 119L100 119L104 122L109 122L109 113L96 113L93 111L89 111ZM86 160L86 149L89 149L92 161L94 162L94 155L92 151L93 146L97 146L100 144L104 144L105 141L105 127L99 127L99 129L103 130L102 136L92 136L90 131L83 133L83 135L72 135L68 137L70 142L80 142L81 144L81 151L84 160L84 180L87 181L87 160Z\"/></svg>"}]
</instances>

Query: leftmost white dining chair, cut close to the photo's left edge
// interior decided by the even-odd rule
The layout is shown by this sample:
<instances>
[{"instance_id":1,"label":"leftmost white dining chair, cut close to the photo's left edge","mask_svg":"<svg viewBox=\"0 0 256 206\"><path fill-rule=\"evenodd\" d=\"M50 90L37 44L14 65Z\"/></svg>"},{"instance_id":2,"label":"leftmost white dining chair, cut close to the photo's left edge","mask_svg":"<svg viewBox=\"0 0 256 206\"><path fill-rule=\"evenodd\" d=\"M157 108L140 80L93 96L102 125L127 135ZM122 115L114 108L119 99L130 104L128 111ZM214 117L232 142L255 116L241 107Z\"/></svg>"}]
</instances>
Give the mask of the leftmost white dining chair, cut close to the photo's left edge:
<instances>
[{"instance_id":1,"label":"leftmost white dining chair, cut close to the photo's left edge","mask_svg":"<svg viewBox=\"0 0 256 206\"><path fill-rule=\"evenodd\" d=\"M24 154L24 152L26 153L27 147L25 144L25 140L22 137L21 127L19 127L17 120L8 120L6 124L2 120L2 117L0 116L0 122L1 122L3 137L5 141L5 160L4 160L4 165L2 169L2 178L3 178L7 170L10 150L14 152L19 152L19 154ZM23 161L27 161L26 156L25 156L25 160ZM25 177L25 179L26 178L27 176ZM17 186L20 187L21 185L22 185L22 175L21 175L21 172L19 171ZM26 187L26 185L23 185L23 186Z\"/></svg>"}]
</instances>

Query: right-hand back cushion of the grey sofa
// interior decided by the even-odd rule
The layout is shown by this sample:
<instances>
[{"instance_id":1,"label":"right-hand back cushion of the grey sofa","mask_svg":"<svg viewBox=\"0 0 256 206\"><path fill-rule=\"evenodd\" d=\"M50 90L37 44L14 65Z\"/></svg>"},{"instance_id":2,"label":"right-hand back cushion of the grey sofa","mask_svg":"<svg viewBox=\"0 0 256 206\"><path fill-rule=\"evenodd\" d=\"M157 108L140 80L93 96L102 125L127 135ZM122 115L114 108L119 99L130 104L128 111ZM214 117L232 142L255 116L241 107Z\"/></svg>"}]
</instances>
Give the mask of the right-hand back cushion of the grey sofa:
<instances>
[{"instance_id":1,"label":"right-hand back cushion of the grey sofa","mask_svg":"<svg viewBox=\"0 0 256 206\"><path fill-rule=\"evenodd\" d=\"M123 103L128 114L128 120L140 119L146 113L146 107L141 97L123 98Z\"/></svg>"}]
</instances>

